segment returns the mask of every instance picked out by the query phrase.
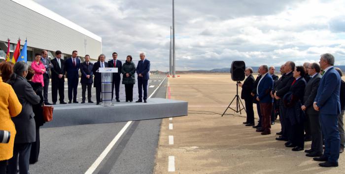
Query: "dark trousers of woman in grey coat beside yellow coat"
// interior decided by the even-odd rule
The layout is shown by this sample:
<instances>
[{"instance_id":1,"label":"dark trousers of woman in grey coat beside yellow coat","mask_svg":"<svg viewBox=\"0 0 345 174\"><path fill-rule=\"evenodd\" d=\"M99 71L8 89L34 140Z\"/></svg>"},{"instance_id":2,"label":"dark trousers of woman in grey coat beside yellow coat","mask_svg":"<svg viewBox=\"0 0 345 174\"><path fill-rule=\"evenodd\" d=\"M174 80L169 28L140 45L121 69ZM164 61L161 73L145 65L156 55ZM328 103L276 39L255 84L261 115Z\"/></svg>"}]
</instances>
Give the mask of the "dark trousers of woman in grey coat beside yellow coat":
<instances>
[{"instance_id":1,"label":"dark trousers of woman in grey coat beside yellow coat","mask_svg":"<svg viewBox=\"0 0 345 174\"><path fill-rule=\"evenodd\" d=\"M28 174L30 151L31 143L14 143L13 157L8 161L8 174L17 174L18 164L19 174Z\"/></svg>"}]
</instances>

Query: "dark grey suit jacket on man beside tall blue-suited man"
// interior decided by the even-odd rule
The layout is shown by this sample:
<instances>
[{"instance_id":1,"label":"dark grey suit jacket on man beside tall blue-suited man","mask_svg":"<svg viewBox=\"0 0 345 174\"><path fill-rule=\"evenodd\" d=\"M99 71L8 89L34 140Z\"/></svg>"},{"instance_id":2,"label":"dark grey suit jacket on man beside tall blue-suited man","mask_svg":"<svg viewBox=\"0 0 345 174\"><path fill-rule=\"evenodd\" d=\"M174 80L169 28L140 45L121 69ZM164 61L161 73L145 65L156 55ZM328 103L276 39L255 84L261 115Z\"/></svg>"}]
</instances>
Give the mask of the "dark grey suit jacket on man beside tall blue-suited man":
<instances>
[{"instance_id":1,"label":"dark grey suit jacket on man beside tall blue-suited man","mask_svg":"<svg viewBox=\"0 0 345 174\"><path fill-rule=\"evenodd\" d=\"M314 109L312 106L314 99L316 97L317 88L319 87L321 75L317 73L314 77L312 77L307 85L306 89L304 90L304 105L307 107L307 113L317 115L319 112Z\"/></svg>"}]
</instances>

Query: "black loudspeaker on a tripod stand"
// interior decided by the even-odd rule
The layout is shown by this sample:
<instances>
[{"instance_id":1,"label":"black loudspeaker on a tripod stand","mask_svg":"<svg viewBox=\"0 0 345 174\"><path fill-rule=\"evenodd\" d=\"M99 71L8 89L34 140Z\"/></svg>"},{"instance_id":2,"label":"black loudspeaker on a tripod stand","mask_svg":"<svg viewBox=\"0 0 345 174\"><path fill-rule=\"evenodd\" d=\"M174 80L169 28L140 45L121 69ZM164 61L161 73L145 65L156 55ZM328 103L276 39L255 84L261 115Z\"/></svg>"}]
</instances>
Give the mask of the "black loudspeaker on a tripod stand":
<instances>
[{"instance_id":1,"label":"black loudspeaker on a tripod stand","mask_svg":"<svg viewBox=\"0 0 345 174\"><path fill-rule=\"evenodd\" d=\"M240 114L242 114L242 110L245 108L243 106L243 103L241 101L241 98L239 97L239 81L244 80L245 74L244 74L244 70L245 70L245 63L243 61L233 61L231 63L231 69L230 69L230 73L231 73L231 79L233 81L236 81L236 96L234 97L234 99L230 102L230 104L228 105L228 107L225 109L224 113L222 114L222 116L225 114L225 112L230 108L232 110L234 110L236 113L240 112ZM235 109L231 108L230 105L236 100L236 106ZM240 104L241 103L241 104ZM242 108L241 108L242 105Z\"/></svg>"}]
</instances>

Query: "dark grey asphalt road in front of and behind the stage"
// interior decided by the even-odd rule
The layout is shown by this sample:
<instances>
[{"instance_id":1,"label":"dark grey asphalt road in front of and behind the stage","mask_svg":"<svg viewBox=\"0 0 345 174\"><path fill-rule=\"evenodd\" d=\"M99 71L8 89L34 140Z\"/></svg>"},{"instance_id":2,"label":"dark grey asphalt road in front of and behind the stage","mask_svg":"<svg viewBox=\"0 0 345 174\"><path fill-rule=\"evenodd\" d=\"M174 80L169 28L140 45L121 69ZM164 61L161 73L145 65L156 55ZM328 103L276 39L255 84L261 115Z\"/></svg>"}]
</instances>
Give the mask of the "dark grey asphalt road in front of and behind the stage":
<instances>
[{"instance_id":1,"label":"dark grey asphalt road in front of and behind the stage","mask_svg":"<svg viewBox=\"0 0 345 174\"><path fill-rule=\"evenodd\" d=\"M164 80L165 76L152 75L150 78L151 87L148 88L148 96L163 81L152 98L165 98L167 84L167 80ZM81 87L78 87L77 94L80 102ZM65 101L68 101L67 88L65 96ZM94 101L95 97L95 95L92 97ZM122 97L124 95L120 100L124 101ZM51 93L49 99L51 102ZM85 174L126 123L40 129L40 155L38 162L30 165L30 173ZM93 174L152 174L160 125L161 119L133 121Z\"/></svg>"}]
</instances>

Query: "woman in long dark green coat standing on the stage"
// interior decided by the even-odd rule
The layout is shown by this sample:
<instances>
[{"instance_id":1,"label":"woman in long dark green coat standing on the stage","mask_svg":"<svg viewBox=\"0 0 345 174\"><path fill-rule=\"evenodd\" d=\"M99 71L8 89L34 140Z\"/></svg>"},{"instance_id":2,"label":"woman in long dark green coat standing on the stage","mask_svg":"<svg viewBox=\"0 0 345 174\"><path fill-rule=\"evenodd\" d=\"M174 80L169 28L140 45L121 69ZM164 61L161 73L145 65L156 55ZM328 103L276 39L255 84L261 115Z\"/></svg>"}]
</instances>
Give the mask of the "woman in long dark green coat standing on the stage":
<instances>
[{"instance_id":1,"label":"woman in long dark green coat standing on the stage","mask_svg":"<svg viewBox=\"0 0 345 174\"><path fill-rule=\"evenodd\" d=\"M126 62L122 65L122 84L125 85L126 102L133 101L133 86L136 83L136 65L132 62L132 56L128 55Z\"/></svg>"}]
</instances>

